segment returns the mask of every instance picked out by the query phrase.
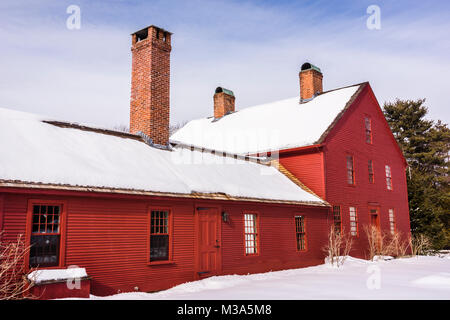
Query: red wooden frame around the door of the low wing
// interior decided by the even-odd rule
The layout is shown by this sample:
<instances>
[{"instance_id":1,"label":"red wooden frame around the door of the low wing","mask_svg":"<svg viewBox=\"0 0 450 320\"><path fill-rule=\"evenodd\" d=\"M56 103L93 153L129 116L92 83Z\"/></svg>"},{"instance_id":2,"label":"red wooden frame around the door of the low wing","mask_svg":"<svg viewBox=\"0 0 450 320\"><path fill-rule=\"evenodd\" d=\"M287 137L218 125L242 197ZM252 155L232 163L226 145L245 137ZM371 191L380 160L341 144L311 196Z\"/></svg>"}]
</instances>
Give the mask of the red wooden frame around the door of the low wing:
<instances>
[{"instance_id":1,"label":"red wooden frame around the door of the low wing","mask_svg":"<svg viewBox=\"0 0 450 320\"><path fill-rule=\"evenodd\" d=\"M200 209L200 210L199 210ZM216 219L217 223L217 234L220 248L218 248L218 263L216 272L210 273L208 276L215 276L222 274L222 215L221 215L221 207L218 206L209 206L205 204L204 206L200 203L196 204L194 207L194 279L204 279L205 277L200 277L198 272L200 272L200 243L199 243L199 235L200 235L200 212L202 210L215 210L216 211Z\"/></svg>"}]
</instances>

